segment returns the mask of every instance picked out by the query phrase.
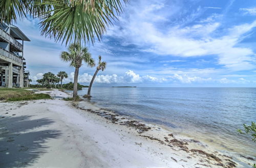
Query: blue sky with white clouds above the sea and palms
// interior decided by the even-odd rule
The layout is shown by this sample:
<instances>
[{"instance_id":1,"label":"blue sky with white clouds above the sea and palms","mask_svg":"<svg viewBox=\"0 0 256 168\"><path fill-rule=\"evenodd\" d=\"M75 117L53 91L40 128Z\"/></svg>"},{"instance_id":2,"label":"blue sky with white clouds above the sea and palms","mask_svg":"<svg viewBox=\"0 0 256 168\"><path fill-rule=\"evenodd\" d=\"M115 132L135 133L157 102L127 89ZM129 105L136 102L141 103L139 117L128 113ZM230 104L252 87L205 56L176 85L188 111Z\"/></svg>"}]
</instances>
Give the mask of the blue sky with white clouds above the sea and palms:
<instances>
[{"instance_id":1,"label":"blue sky with white clouds above the sea and palms","mask_svg":"<svg viewBox=\"0 0 256 168\"><path fill-rule=\"evenodd\" d=\"M59 59L66 46L40 36L38 20L17 25L30 38L31 79L74 68ZM87 45L108 63L95 86L255 87L256 5L249 0L131 0L101 42ZM80 68L90 82L95 68Z\"/></svg>"}]
</instances>

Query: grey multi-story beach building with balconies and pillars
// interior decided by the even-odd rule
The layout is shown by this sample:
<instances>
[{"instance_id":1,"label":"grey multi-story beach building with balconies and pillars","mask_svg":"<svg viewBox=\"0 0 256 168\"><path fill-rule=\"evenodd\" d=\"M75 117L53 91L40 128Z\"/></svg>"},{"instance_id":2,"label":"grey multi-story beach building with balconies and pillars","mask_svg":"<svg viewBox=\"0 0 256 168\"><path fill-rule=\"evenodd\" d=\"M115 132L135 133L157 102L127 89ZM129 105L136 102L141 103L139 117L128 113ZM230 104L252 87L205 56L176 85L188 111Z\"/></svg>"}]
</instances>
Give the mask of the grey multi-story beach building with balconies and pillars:
<instances>
[{"instance_id":1,"label":"grey multi-story beach building with balconies and pillars","mask_svg":"<svg viewBox=\"0 0 256 168\"><path fill-rule=\"evenodd\" d=\"M28 86L29 71L25 71L24 41L30 41L18 27L0 23L0 87Z\"/></svg>"}]
</instances>

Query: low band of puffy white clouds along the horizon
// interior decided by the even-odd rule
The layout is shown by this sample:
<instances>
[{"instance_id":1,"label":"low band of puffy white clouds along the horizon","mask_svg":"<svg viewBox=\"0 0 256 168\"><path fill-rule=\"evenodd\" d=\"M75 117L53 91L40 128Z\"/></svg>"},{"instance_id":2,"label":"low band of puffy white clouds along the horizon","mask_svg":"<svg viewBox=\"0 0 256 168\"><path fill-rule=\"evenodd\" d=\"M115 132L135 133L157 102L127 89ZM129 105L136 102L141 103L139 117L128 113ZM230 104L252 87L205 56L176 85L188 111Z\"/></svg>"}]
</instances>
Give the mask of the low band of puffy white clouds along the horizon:
<instances>
[{"instance_id":1,"label":"low band of puffy white clouds along the horizon","mask_svg":"<svg viewBox=\"0 0 256 168\"><path fill-rule=\"evenodd\" d=\"M37 79L42 78L42 73L38 73L35 76L31 77L33 83L36 83ZM200 74L198 74L200 75ZM83 73L78 76L79 83L90 83L92 79L92 75L88 73ZM233 76L232 76L233 77ZM68 78L63 79L63 83L73 82L74 81L74 72L71 72ZM211 77L201 77L195 75L185 74L183 72L180 74L173 74L173 75L166 75L166 76L151 76L151 75L144 75L141 76L136 74L134 71L129 70L126 71L123 75L97 75L95 83L105 83L105 84L115 84L115 83L183 83L183 84L192 84L192 83L222 83L222 84L229 84L229 83L253 83L255 81L250 81L245 78L237 78L237 79L228 79L228 78L221 78L221 79L214 79Z\"/></svg>"}]
</instances>

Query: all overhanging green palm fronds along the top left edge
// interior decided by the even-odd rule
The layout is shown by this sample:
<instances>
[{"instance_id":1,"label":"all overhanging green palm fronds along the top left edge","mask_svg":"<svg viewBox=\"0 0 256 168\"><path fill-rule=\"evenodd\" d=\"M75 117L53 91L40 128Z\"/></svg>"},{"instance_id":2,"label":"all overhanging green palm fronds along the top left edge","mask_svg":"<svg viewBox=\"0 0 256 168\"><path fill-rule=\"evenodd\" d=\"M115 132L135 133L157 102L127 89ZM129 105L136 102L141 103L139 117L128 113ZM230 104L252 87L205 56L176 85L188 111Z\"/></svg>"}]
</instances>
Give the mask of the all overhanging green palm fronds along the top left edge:
<instances>
[{"instance_id":1,"label":"all overhanging green palm fronds along the top left edge","mask_svg":"<svg viewBox=\"0 0 256 168\"><path fill-rule=\"evenodd\" d=\"M92 42L101 39L128 0L1 0L0 22L32 16L40 20L41 34L55 41Z\"/></svg>"}]
</instances>

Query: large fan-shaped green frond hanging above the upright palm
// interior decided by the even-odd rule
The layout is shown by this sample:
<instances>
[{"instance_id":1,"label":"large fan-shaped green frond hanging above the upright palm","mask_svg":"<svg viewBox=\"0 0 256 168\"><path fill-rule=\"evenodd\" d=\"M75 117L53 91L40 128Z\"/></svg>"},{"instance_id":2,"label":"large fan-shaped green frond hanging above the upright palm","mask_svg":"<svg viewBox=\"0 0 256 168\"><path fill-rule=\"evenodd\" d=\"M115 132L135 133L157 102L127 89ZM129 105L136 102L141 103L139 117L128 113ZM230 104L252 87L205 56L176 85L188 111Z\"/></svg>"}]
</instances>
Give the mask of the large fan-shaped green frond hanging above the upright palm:
<instances>
[{"instance_id":1,"label":"large fan-shaped green frond hanging above the upright palm","mask_svg":"<svg viewBox=\"0 0 256 168\"><path fill-rule=\"evenodd\" d=\"M127 0L70 0L43 1L51 6L40 17L41 34L55 41L91 42L101 40L106 27L122 12ZM49 7L48 7L49 8Z\"/></svg>"}]
</instances>

